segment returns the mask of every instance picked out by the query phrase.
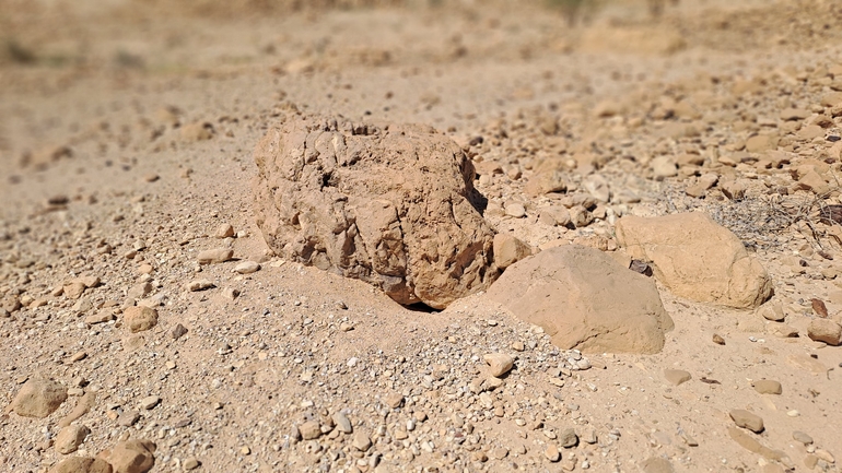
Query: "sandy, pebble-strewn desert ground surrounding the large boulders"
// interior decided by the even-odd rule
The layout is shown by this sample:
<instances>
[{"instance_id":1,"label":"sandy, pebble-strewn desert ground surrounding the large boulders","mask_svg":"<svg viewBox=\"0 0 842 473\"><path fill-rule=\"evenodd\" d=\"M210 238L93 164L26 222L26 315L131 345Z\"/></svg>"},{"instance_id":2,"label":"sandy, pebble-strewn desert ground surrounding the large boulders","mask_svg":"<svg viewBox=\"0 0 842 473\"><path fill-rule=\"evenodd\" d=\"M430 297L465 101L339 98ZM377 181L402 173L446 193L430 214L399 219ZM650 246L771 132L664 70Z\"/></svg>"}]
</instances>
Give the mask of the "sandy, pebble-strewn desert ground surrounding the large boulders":
<instances>
[{"instance_id":1,"label":"sandy, pebble-strewn desert ground surrounding the large boulders","mask_svg":"<svg viewBox=\"0 0 842 473\"><path fill-rule=\"evenodd\" d=\"M0 470L840 470L838 2L261 5L0 2ZM296 113L449 137L519 257L657 280L663 348L276 255L253 150ZM741 245L617 232L690 211Z\"/></svg>"}]
</instances>

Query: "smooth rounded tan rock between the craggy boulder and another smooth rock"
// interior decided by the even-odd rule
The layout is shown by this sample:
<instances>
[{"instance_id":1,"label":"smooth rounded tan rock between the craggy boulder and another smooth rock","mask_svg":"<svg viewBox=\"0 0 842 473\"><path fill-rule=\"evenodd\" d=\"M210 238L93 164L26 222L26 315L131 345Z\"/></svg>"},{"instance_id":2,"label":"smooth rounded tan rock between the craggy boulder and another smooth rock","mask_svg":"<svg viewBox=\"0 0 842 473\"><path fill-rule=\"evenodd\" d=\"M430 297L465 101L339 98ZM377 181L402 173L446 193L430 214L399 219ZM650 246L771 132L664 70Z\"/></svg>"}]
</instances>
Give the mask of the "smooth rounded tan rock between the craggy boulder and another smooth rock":
<instances>
[{"instance_id":1,"label":"smooth rounded tan rock between the craggy boulder and another smooth rock","mask_svg":"<svg viewBox=\"0 0 842 473\"><path fill-rule=\"evenodd\" d=\"M487 294L562 348L657 353L673 329L652 279L577 245L515 263Z\"/></svg>"}]
</instances>

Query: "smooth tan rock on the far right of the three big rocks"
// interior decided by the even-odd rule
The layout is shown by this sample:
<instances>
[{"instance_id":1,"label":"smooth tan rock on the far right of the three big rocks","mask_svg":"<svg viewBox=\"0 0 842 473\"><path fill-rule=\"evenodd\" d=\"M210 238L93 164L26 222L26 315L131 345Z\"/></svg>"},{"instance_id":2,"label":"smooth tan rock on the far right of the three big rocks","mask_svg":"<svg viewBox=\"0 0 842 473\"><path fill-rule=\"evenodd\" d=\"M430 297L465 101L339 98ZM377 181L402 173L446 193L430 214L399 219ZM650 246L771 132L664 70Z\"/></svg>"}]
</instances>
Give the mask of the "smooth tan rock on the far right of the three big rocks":
<instances>
[{"instance_id":1,"label":"smooth tan rock on the far right of the three big rocks","mask_svg":"<svg viewBox=\"0 0 842 473\"><path fill-rule=\"evenodd\" d=\"M760 262L739 238L703 213L624 216L616 232L618 244L632 258L652 261L655 276L681 297L749 308L772 293Z\"/></svg>"}]
</instances>

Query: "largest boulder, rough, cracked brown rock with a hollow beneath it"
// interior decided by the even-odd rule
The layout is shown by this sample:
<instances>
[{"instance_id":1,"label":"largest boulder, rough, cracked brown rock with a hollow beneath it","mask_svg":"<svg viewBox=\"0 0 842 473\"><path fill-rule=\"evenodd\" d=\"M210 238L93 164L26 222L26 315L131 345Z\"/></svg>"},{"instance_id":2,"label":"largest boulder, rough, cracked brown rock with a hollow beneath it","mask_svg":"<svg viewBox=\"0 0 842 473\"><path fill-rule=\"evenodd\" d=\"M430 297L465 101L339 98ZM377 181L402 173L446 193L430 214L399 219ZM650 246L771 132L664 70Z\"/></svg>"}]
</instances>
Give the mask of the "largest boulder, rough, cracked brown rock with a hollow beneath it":
<instances>
[{"instance_id":1,"label":"largest boulder, rough, cracked brown rock with a hollow beneath it","mask_svg":"<svg viewBox=\"0 0 842 473\"><path fill-rule=\"evenodd\" d=\"M429 127L291 116L255 161L257 224L286 260L438 309L499 275L473 165Z\"/></svg>"}]
</instances>

